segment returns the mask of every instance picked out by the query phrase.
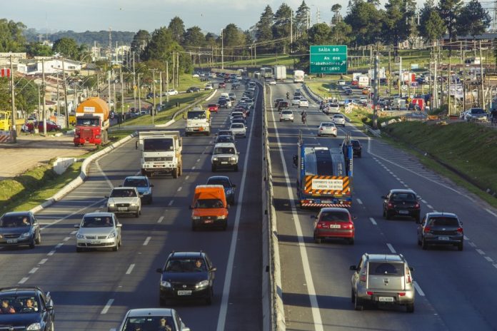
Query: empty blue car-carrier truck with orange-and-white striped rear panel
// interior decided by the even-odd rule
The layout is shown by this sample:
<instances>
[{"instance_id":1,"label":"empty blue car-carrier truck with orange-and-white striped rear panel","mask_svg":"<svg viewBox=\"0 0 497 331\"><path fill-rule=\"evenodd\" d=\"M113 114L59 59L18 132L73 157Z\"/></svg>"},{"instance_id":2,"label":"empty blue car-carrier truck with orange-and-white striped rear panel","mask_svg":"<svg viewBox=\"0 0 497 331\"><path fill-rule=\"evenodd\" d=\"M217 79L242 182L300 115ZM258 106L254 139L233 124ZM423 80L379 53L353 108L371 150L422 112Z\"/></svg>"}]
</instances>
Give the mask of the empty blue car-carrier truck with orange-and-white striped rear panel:
<instances>
[{"instance_id":1,"label":"empty blue car-carrier truck with orange-and-white striped rear panel","mask_svg":"<svg viewBox=\"0 0 497 331\"><path fill-rule=\"evenodd\" d=\"M341 148L311 146L298 141L293 165L301 208L343 207L352 205L353 149L350 136Z\"/></svg>"}]
</instances>

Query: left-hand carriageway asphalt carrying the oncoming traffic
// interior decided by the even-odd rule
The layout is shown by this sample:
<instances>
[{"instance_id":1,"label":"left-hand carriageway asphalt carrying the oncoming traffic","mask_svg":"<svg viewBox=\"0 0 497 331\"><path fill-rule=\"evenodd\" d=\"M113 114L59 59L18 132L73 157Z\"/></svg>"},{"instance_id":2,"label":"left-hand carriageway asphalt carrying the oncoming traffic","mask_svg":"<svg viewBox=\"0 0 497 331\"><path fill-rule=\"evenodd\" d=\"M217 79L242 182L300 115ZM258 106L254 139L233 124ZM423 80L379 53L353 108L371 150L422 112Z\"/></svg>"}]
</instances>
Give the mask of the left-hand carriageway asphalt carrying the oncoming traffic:
<instances>
[{"instance_id":1,"label":"left-hand carriageway asphalt carrying the oncoming traffic","mask_svg":"<svg viewBox=\"0 0 497 331\"><path fill-rule=\"evenodd\" d=\"M236 91L240 98L243 89ZM219 96L216 94L215 98ZM261 96L248 120L247 138L237 139L239 172L219 171L237 185L236 205L229 209L229 228L191 230L192 194L211 173L214 135L184 137L184 173L153 177L154 203L140 218L119 217L123 245L117 252L76 253L75 224L84 213L106 210L112 187L139 173L136 139L91 165L89 178L69 195L37 214L42 243L34 250L0 249L0 286L36 285L50 291L56 330L109 330L131 308L159 307L159 277L171 250L204 250L217 268L214 302L174 302L191 330L261 330ZM214 114L213 132L226 128L230 110ZM243 312L243 313L239 313Z\"/></svg>"}]
</instances>

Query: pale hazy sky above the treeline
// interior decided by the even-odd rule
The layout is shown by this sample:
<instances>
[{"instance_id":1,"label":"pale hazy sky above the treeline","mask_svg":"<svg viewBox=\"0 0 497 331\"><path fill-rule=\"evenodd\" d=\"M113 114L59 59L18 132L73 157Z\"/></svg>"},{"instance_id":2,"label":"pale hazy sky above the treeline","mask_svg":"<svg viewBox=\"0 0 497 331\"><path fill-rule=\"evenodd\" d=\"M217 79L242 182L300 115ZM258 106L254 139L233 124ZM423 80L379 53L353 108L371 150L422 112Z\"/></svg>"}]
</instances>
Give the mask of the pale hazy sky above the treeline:
<instances>
[{"instance_id":1,"label":"pale hazy sky above the treeline","mask_svg":"<svg viewBox=\"0 0 497 331\"><path fill-rule=\"evenodd\" d=\"M421 0L418 0L421 1ZM199 26L204 32L219 34L234 23L249 29L260 19L267 5L276 12L285 2L293 10L302 0L1 0L0 18L24 23L29 29L76 32L149 32L168 26L174 16L184 21L185 29ZM383 1L382 1L383 3ZM306 0L312 23L331 21L331 6L341 4L345 14L348 0Z\"/></svg>"}]
</instances>

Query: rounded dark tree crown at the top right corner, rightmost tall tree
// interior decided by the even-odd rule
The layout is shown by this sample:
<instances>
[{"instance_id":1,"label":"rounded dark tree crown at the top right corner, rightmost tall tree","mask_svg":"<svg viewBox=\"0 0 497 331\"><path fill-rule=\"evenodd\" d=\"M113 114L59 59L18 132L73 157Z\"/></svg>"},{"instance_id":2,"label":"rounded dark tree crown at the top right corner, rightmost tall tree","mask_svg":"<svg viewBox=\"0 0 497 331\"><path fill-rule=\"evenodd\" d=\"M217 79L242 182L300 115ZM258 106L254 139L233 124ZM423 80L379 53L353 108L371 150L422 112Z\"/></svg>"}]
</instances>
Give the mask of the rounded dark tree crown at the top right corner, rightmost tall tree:
<instances>
[{"instance_id":1,"label":"rounded dark tree crown at the top right corner, rightmost tall tree","mask_svg":"<svg viewBox=\"0 0 497 331\"><path fill-rule=\"evenodd\" d=\"M483 9L481 3L478 0L471 0L461 9L461 15L458 18L458 34L460 36L469 34L475 39L475 36L483 34L488 29L491 20L491 16Z\"/></svg>"}]
</instances>

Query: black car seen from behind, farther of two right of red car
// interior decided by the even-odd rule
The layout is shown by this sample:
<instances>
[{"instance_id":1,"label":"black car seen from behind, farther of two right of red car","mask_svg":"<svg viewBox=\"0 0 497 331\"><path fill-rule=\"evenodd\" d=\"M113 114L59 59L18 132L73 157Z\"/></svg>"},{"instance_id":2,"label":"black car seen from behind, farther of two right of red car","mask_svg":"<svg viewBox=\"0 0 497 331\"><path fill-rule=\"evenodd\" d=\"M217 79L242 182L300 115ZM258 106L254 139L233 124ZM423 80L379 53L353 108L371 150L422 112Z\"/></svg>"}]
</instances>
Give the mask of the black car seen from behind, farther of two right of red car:
<instances>
[{"instance_id":1,"label":"black car seen from behind, farther of two right of red car","mask_svg":"<svg viewBox=\"0 0 497 331\"><path fill-rule=\"evenodd\" d=\"M396 189L390 190L387 195L382 195L383 199L383 217L387 220L393 216L409 216L419 222L421 198L413 190Z\"/></svg>"}]
</instances>

